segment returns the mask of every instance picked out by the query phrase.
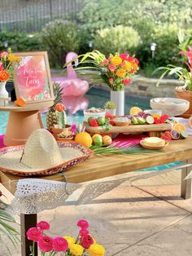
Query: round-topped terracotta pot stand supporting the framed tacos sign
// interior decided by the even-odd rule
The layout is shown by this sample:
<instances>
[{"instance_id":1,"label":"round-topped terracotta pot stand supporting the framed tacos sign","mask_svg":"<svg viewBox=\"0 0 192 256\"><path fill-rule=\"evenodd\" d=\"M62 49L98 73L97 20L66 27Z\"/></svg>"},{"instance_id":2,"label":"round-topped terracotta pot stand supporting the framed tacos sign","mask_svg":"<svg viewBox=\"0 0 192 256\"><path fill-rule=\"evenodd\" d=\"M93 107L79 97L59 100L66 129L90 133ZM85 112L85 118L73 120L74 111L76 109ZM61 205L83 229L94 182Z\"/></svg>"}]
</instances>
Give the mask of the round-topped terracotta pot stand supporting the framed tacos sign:
<instances>
[{"instance_id":1,"label":"round-topped terracotta pot stand supporting the framed tacos sign","mask_svg":"<svg viewBox=\"0 0 192 256\"><path fill-rule=\"evenodd\" d=\"M33 130L44 128L40 110L49 108L54 102L27 104L25 107L17 107L13 104L0 107L0 111L9 111L6 134L3 143L6 146L15 146L26 143Z\"/></svg>"}]
</instances>

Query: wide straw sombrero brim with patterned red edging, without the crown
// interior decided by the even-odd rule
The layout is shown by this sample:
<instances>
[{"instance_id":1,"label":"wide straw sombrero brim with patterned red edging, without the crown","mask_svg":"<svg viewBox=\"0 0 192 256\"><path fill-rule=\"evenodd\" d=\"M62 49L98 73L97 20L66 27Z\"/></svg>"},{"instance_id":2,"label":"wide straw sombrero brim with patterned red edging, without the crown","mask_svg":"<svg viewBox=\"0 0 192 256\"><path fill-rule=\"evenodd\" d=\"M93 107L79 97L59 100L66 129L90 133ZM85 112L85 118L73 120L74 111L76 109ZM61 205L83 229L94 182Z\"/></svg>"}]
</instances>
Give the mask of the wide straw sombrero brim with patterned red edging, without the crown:
<instances>
[{"instance_id":1,"label":"wide straw sombrero brim with patterned red edging, without the crown","mask_svg":"<svg viewBox=\"0 0 192 256\"><path fill-rule=\"evenodd\" d=\"M50 166L46 169L30 168L20 162L20 157L24 150L24 145L13 146L0 149L0 170L18 176L37 176L56 174L67 170L90 157L93 152L79 143L72 141L58 142L59 152L63 157L63 162L59 166Z\"/></svg>"}]
</instances>

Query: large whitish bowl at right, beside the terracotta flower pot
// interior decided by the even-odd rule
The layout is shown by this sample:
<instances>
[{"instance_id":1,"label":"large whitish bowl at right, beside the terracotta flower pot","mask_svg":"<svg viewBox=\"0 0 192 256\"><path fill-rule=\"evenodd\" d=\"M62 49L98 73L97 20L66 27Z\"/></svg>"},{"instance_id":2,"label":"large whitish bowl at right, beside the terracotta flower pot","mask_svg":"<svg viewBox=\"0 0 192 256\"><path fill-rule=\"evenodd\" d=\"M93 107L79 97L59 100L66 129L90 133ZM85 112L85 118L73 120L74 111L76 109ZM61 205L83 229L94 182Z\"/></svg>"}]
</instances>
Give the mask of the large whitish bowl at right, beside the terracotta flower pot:
<instances>
[{"instance_id":1,"label":"large whitish bowl at right, beside the terracotta flower pot","mask_svg":"<svg viewBox=\"0 0 192 256\"><path fill-rule=\"evenodd\" d=\"M178 98L154 98L150 100L151 108L161 109L169 117L179 116L190 107L190 102Z\"/></svg>"}]
</instances>

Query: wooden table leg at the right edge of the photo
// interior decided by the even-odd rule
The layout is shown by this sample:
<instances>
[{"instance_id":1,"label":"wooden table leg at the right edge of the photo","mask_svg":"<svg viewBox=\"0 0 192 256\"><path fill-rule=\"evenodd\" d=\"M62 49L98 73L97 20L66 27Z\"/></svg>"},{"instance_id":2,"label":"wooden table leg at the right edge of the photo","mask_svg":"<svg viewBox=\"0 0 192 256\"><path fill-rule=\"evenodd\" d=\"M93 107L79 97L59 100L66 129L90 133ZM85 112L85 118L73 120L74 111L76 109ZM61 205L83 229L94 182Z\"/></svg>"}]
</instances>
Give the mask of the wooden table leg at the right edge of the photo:
<instances>
[{"instance_id":1,"label":"wooden table leg at the right edge of the photo","mask_svg":"<svg viewBox=\"0 0 192 256\"><path fill-rule=\"evenodd\" d=\"M192 163L192 159L183 161L183 164ZM189 199L191 197L191 179L184 180L185 177L190 174L192 166L184 167L181 171L181 197L184 199Z\"/></svg>"}]
</instances>

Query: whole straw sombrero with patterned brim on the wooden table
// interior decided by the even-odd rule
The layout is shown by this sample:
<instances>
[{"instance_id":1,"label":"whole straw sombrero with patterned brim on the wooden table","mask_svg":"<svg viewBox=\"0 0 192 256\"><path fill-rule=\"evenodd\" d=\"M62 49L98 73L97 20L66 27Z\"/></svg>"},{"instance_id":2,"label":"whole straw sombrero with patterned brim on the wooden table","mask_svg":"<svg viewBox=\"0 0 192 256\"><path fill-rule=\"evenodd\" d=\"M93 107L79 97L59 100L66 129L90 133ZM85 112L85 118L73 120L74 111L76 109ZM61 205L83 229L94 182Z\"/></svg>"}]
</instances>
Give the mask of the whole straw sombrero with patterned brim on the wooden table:
<instances>
[{"instance_id":1,"label":"whole straw sombrero with patterned brim on the wooden table","mask_svg":"<svg viewBox=\"0 0 192 256\"><path fill-rule=\"evenodd\" d=\"M57 142L48 130L35 130L25 145L0 149L0 170L20 176L48 175L85 161L89 148L75 142Z\"/></svg>"}]
</instances>

